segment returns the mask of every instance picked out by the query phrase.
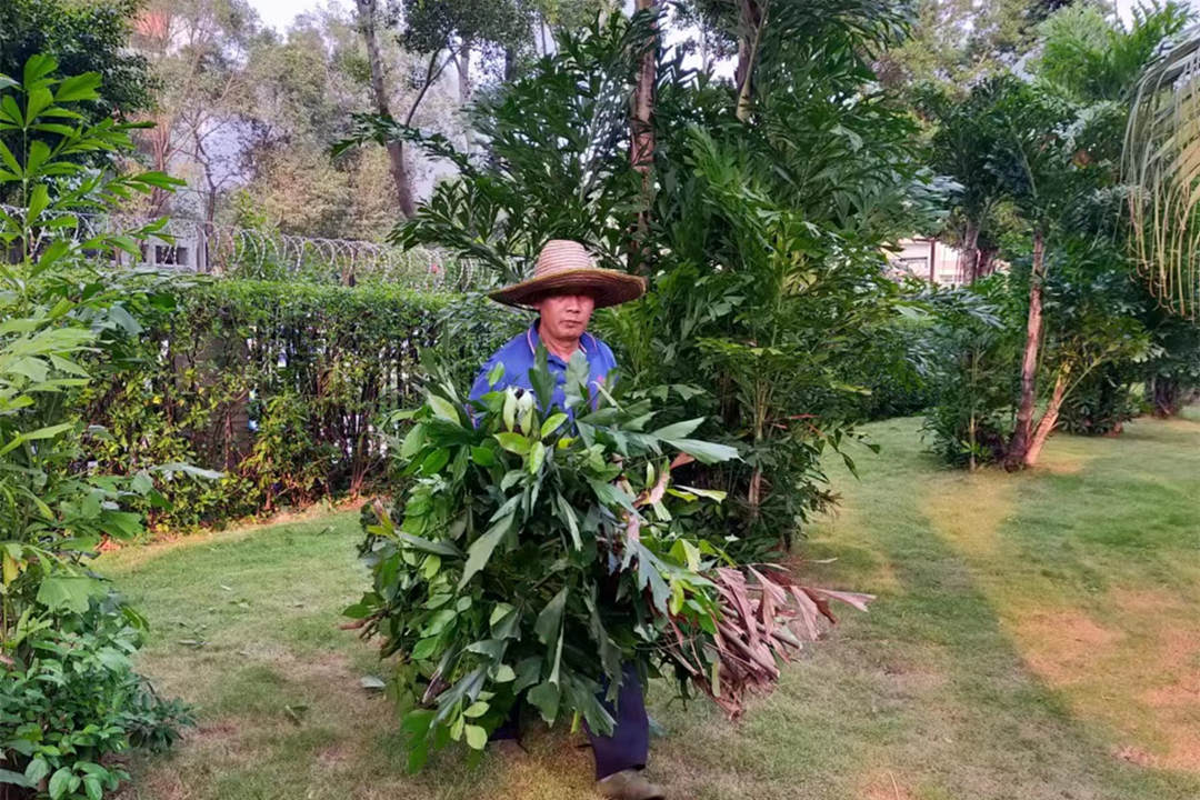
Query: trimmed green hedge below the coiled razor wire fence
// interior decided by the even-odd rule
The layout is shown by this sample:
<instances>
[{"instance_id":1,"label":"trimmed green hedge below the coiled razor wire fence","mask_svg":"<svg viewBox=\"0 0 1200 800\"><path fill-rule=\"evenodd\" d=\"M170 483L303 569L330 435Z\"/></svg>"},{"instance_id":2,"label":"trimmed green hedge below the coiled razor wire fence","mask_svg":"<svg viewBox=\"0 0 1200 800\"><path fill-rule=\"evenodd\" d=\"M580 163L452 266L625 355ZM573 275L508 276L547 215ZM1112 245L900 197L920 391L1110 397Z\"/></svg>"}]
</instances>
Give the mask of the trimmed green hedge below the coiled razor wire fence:
<instances>
[{"instance_id":1,"label":"trimmed green hedge below the coiled razor wire fence","mask_svg":"<svg viewBox=\"0 0 1200 800\"><path fill-rule=\"evenodd\" d=\"M103 428L94 467L223 474L161 485L168 505L146 509L158 528L368 489L385 469L380 419L419 403L419 349L466 378L523 324L454 295L229 279L181 283L173 306L138 313L140 347L85 398Z\"/></svg>"}]
</instances>

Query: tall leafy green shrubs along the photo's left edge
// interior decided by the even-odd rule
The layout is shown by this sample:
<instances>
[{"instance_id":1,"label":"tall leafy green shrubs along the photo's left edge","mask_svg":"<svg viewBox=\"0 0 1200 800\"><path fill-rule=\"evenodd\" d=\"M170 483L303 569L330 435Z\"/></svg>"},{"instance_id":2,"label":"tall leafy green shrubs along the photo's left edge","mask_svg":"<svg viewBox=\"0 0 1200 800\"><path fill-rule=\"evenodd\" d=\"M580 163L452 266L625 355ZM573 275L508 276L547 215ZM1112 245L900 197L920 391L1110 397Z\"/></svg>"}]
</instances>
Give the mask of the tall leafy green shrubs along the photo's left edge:
<instances>
[{"instance_id":1,"label":"tall leafy green shrubs along the photo's left edge","mask_svg":"<svg viewBox=\"0 0 1200 800\"><path fill-rule=\"evenodd\" d=\"M79 213L173 181L96 167L131 148L130 126L84 122L71 104L95 100L100 76L60 79L55 67L35 56L22 80L0 76L0 132L24 145L0 143L0 185L20 203L0 209L0 787L8 798L95 800L125 777L107 756L169 742L186 710L133 673L145 621L86 565L103 536L142 530L132 498L161 500L150 469L88 469L77 402L140 331L128 307L152 302L133 290L139 281L97 264L136 254L156 227L74 233Z\"/></svg>"}]
</instances>

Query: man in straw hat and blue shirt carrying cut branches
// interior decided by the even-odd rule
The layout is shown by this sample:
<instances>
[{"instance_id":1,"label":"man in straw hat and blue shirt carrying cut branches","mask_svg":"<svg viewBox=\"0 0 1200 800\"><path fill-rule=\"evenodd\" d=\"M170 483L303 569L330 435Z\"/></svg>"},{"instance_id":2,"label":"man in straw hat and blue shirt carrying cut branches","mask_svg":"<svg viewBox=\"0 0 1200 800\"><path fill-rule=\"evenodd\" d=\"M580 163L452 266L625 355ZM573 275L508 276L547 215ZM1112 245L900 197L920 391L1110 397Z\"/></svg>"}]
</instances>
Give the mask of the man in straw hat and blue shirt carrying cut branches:
<instances>
[{"instance_id":1,"label":"man in straw hat and blue shirt carrying cut branches","mask_svg":"<svg viewBox=\"0 0 1200 800\"><path fill-rule=\"evenodd\" d=\"M493 291L497 302L538 312L529 330L514 337L484 365L470 390L479 398L488 391L516 386L532 391L529 369L539 345L545 345L547 365L554 375L553 404L564 405L566 365L577 350L588 360L588 380L602 384L617 361L608 345L587 332L595 308L616 306L636 300L646 291L643 278L595 266L583 245L574 241L551 240L538 255L534 276ZM488 373L497 363L504 374L494 387L487 384ZM596 762L596 788L607 798L618 800L655 800L662 790L646 780L650 748L649 718L642 697L642 685L635 669L626 666L617 696L617 705L607 704L617 721L611 736L596 735L588 728L592 751ZM497 730L493 739L516 738L515 720Z\"/></svg>"}]
</instances>

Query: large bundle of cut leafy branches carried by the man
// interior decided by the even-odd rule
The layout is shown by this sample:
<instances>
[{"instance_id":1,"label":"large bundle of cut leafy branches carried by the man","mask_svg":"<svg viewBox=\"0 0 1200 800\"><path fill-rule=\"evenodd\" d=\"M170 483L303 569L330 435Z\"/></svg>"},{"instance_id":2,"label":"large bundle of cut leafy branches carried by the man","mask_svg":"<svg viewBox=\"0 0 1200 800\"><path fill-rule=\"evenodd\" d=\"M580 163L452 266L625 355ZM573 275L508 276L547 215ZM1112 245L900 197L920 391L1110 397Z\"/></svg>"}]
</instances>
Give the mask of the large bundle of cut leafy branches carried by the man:
<instances>
[{"instance_id":1,"label":"large bundle of cut leafy branches carried by the man","mask_svg":"<svg viewBox=\"0 0 1200 800\"><path fill-rule=\"evenodd\" d=\"M478 754L522 698L550 724L610 733L600 698L629 663L736 715L779 678L776 658L816 638L830 599L868 599L737 565L696 522L724 493L672 481L737 451L691 438L701 419L659 425L678 402L589 395L582 354L554 408L545 359L533 392L464 403L432 386L392 444L409 479L396 512L365 510L373 588L346 613L397 656L413 768L451 740Z\"/></svg>"}]
</instances>

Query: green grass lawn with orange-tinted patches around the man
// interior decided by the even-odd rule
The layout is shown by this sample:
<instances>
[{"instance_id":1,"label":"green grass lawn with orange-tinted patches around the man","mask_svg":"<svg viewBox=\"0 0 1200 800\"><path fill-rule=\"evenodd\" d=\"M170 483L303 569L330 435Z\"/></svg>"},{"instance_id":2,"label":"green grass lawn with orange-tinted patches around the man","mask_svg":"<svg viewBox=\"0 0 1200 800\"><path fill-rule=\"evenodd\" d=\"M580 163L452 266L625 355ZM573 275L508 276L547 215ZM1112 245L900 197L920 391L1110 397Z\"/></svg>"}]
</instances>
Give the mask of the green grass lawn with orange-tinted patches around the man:
<instances>
[{"instance_id":1,"label":"green grass lawn with orange-tinted patches around the man","mask_svg":"<svg viewBox=\"0 0 1200 800\"><path fill-rule=\"evenodd\" d=\"M739 723L652 712L678 798L1200 798L1200 414L1118 439L1056 437L1032 473L952 473L914 420L838 471L803 551L822 585L875 591ZM337 630L365 585L356 513L101 559L150 618L142 668L200 724L134 765L133 799L592 798L590 756L403 770L372 648ZM653 698L652 698L653 699Z\"/></svg>"}]
</instances>

